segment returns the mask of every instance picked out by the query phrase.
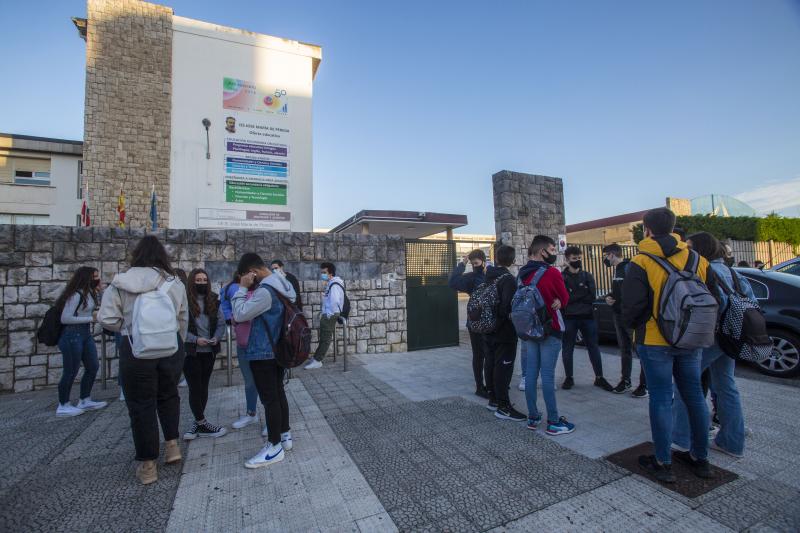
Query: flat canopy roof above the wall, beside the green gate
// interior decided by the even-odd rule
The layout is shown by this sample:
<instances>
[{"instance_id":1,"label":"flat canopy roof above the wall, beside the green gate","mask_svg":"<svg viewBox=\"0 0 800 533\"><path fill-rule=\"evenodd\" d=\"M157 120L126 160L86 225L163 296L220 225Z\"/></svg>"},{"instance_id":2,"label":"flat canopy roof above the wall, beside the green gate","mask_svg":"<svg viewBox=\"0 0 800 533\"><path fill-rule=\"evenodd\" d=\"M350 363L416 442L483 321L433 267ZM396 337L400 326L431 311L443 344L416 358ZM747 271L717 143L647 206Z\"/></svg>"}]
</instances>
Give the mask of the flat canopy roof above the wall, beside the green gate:
<instances>
[{"instance_id":1,"label":"flat canopy roof above the wall, beside the green gate","mask_svg":"<svg viewBox=\"0 0 800 533\"><path fill-rule=\"evenodd\" d=\"M361 233L364 224L373 235L401 235L421 239L448 229L467 225L467 215L426 213L420 211L359 211L331 233Z\"/></svg>"}]
</instances>

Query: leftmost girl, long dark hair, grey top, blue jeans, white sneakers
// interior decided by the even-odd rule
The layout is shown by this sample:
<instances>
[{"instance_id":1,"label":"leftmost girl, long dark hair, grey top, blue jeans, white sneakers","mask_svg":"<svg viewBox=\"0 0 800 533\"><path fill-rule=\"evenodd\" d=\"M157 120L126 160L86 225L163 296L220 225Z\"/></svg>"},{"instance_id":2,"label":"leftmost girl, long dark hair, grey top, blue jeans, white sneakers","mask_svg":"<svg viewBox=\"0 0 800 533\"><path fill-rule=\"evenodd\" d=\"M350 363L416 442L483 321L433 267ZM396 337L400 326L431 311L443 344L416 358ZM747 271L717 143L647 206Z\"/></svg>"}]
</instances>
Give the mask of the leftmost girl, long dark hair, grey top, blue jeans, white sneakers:
<instances>
[{"instance_id":1,"label":"leftmost girl, long dark hair, grey top, blue jeans, white sneakers","mask_svg":"<svg viewBox=\"0 0 800 533\"><path fill-rule=\"evenodd\" d=\"M92 337L92 324L97 321L99 288L100 273L97 269L80 267L56 300L56 309L62 310L63 328L58 339L58 348L64 361L61 380L58 382L58 417L76 416L107 405L106 402L92 400L92 386L99 368L97 347ZM69 397L81 363L83 377L80 398L78 405L73 406Z\"/></svg>"}]
</instances>

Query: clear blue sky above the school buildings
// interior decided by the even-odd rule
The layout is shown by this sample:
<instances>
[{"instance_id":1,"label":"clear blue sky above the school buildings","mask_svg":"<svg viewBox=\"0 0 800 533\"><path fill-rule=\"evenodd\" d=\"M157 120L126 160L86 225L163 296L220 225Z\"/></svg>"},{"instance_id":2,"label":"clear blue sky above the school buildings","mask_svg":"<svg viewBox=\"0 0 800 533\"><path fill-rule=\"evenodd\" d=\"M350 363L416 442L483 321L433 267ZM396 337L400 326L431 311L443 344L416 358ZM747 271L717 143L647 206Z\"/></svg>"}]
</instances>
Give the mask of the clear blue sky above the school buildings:
<instances>
[{"instance_id":1,"label":"clear blue sky above the school buildings","mask_svg":"<svg viewBox=\"0 0 800 533\"><path fill-rule=\"evenodd\" d=\"M169 0L322 46L314 226L466 214L491 175L564 180L567 223L729 194L800 216L800 0ZM83 137L82 1L0 0L0 131Z\"/></svg>"}]
</instances>

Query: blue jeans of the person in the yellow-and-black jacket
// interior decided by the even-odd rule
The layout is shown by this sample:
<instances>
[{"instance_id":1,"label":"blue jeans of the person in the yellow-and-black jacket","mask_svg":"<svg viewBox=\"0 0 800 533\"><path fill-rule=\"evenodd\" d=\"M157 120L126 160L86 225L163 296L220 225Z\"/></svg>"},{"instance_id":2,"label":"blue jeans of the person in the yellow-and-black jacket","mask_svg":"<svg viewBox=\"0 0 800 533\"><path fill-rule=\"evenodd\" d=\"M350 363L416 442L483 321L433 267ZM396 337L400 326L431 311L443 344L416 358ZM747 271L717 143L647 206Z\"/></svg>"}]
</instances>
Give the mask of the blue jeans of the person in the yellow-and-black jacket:
<instances>
[{"instance_id":1,"label":"blue jeans of the person in the yellow-and-black jacket","mask_svg":"<svg viewBox=\"0 0 800 533\"><path fill-rule=\"evenodd\" d=\"M670 346L637 346L650 391L650 431L656 459L672 463L672 379L686 402L691 428L689 451L695 459L708 456L708 407L700 384L702 350L679 350Z\"/></svg>"}]
</instances>

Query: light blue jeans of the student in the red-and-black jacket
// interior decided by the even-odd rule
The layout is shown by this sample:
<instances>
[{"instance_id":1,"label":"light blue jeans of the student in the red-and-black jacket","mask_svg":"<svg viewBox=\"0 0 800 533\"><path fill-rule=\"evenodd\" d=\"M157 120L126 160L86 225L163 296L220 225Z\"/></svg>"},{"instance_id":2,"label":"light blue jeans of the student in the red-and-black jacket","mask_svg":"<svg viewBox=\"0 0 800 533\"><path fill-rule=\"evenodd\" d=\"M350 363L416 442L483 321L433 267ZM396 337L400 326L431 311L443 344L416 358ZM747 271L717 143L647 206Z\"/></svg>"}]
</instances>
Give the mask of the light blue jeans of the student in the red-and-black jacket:
<instances>
[{"instance_id":1,"label":"light blue jeans of the student in the red-and-black jacket","mask_svg":"<svg viewBox=\"0 0 800 533\"><path fill-rule=\"evenodd\" d=\"M525 400L528 403L528 417L539 416L536 407L539 373L542 374L542 396L547 406L547 421L558 422L556 404L556 363L561 351L561 339L547 337L543 341L522 341L527 346L527 371L525 377ZM524 350L524 348L523 348Z\"/></svg>"}]
</instances>

